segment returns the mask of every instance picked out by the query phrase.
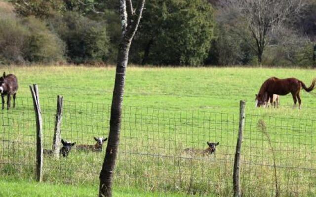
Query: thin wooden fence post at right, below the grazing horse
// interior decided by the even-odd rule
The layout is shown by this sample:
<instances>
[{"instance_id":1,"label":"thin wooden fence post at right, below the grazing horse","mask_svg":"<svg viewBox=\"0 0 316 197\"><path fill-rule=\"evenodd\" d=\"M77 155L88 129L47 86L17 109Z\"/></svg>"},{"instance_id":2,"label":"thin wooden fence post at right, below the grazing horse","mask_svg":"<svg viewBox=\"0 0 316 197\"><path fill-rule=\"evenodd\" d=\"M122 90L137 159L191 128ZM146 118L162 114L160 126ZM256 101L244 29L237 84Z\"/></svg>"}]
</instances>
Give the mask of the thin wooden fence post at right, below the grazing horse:
<instances>
[{"instance_id":1,"label":"thin wooden fence post at right, below the grazing horse","mask_svg":"<svg viewBox=\"0 0 316 197\"><path fill-rule=\"evenodd\" d=\"M242 142L242 131L245 124L245 105L244 100L240 100L239 104L239 130L236 145L235 161L234 161L234 173L233 173L233 184L234 184L234 197L241 197L240 184L239 184L239 162L240 162L240 149Z\"/></svg>"}]
</instances>

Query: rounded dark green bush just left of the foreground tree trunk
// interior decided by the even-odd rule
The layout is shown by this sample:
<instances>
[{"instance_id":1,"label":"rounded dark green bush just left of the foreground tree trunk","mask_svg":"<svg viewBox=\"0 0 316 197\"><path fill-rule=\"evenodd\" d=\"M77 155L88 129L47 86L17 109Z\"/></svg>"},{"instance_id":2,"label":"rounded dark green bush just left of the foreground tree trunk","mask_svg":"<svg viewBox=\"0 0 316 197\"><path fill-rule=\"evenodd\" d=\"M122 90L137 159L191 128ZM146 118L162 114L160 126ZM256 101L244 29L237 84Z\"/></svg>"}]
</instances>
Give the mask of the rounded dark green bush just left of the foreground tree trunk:
<instances>
[{"instance_id":1,"label":"rounded dark green bush just left of the foreground tree trunk","mask_svg":"<svg viewBox=\"0 0 316 197\"><path fill-rule=\"evenodd\" d=\"M77 12L66 12L64 16L56 15L50 24L65 41L70 62L106 61L109 40L104 23L90 20Z\"/></svg>"}]
</instances>

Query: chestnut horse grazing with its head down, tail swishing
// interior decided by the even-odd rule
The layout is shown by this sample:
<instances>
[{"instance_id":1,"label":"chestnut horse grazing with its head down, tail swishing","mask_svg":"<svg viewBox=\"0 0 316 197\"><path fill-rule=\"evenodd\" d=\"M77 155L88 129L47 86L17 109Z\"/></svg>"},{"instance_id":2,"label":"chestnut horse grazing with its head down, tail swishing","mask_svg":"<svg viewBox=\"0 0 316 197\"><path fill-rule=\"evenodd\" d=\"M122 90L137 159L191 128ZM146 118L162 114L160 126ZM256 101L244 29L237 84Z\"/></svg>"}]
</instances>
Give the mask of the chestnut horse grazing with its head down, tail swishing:
<instances>
[{"instance_id":1,"label":"chestnut horse grazing with its head down, tail swishing","mask_svg":"<svg viewBox=\"0 0 316 197\"><path fill-rule=\"evenodd\" d=\"M271 77L267 79L259 90L258 95L256 95L256 107L260 107L265 102L273 102L273 95L287 95L289 93L292 94L294 105L298 100L299 109L301 108L301 98L300 98L300 90L303 88L306 92L311 92L314 90L316 83L316 78L313 79L310 87L306 87L306 85L296 79L296 78L287 78L287 79L278 79L276 77Z\"/></svg>"}]
</instances>

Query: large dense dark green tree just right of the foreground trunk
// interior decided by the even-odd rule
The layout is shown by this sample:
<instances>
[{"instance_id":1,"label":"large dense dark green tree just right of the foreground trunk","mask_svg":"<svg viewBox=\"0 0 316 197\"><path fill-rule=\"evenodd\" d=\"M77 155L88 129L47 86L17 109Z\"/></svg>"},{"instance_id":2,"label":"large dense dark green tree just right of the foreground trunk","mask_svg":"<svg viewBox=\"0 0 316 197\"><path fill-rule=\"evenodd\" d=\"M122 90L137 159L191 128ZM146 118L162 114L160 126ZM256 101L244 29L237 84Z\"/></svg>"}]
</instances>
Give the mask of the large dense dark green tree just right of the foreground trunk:
<instances>
[{"instance_id":1,"label":"large dense dark green tree just right of the foreground trunk","mask_svg":"<svg viewBox=\"0 0 316 197\"><path fill-rule=\"evenodd\" d=\"M205 0L153 0L135 38L139 64L201 65L213 38L213 10ZM135 57L136 56L136 57Z\"/></svg>"}]
</instances>

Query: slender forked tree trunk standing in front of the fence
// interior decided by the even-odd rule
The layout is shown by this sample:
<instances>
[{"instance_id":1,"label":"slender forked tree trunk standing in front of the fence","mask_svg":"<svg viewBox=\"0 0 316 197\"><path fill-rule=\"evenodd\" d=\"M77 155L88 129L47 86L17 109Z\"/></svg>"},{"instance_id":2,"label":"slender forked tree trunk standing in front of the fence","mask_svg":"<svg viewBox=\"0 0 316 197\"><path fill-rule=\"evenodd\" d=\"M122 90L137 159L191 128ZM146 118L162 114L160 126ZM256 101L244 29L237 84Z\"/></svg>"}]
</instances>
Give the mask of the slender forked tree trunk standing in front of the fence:
<instances>
[{"instance_id":1,"label":"slender forked tree trunk standing in front of the fence","mask_svg":"<svg viewBox=\"0 0 316 197\"><path fill-rule=\"evenodd\" d=\"M110 132L105 158L100 172L99 197L112 197L112 183L117 158L121 126L122 102L124 95L128 52L142 16L145 0L138 0L133 10L132 0L119 0L122 35L118 50L118 63L111 106Z\"/></svg>"}]
</instances>

